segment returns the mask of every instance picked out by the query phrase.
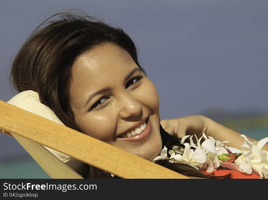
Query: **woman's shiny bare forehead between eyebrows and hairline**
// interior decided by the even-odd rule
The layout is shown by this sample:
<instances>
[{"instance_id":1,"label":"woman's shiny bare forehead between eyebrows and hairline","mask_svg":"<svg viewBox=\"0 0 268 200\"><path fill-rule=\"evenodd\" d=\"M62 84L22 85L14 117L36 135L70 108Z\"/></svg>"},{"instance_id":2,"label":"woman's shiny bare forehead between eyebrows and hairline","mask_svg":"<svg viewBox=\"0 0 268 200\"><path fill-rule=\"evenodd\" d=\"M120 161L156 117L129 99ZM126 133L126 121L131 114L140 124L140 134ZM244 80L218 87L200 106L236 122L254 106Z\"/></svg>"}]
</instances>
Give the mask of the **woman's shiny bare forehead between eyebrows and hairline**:
<instances>
[{"instance_id":1,"label":"woman's shiny bare forehead between eyebrows and hairline","mask_svg":"<svg viewBox=\"0 0 268 200\"><path fill-rule=\"evenodd\" d=\"M120 75L136 67L135 61L122 47L104 43L86 51L76 58L72 67L72 78L100 79L105 75Z\"/></svg>"}]
</instances>

